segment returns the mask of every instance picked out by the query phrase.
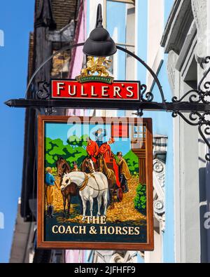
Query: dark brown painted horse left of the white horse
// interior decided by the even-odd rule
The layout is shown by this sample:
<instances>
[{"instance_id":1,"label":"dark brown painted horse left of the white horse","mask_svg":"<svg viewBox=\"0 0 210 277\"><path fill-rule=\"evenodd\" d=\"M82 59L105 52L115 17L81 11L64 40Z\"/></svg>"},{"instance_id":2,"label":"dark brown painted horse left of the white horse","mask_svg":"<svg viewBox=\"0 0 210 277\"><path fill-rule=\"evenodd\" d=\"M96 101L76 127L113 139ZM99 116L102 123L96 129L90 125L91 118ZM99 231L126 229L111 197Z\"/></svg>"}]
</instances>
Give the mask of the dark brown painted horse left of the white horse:
<instances>
[{"instance_id":1,"label":"dark brown painted horse left of the white horse","mask_svg":"<svg viewBox=\"0 0 210 277\"><path fill-rule=\"evenodd\" d=\"M56 165L57 165L57 175L60 177L60 181L59 181L59 187L60 187L62 184L62 179L64 174L70 173L71 168L69 166L69 163L67 163L67 161L61 156L57 159ZM73 183L69 184L69 186L67 186L64 190L61 191L62 198L63 198L63 205L64 205L63 217L66 217L66 200L68 201L67 218L69 218L71 196L78 196L79 194L78 192L79 192L78 186L76 186L76 184L73 184Z\"/></svg>"}]
</instances>

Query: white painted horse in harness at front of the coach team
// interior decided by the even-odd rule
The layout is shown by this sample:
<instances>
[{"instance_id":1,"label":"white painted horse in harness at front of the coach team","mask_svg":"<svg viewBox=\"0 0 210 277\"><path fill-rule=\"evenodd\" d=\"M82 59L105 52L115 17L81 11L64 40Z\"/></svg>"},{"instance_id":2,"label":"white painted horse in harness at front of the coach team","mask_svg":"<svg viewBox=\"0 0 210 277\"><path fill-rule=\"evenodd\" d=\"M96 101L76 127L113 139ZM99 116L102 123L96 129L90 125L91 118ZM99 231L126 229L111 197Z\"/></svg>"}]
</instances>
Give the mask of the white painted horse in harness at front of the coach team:
<instances>
[{"instance_id":1,"label":"white painted horse in harness at front of the coach team","mask_svg":"<svg viewBox=\"0 0 210 277\"><path fill-rule=\"evenodd\" d=\"M64 175L61 189L65 189L74 183L78 186L79 194L83 201L83 220L85 220L86 204L90 201L90 216L92 217L93 199L97 198L98 212L97 217L101 215L102 197L104 200L104 216L106 217L107 197L109 185L106 176L103 173L95 172L91 174L74 171Z\"/></svg>"}]
</instances>

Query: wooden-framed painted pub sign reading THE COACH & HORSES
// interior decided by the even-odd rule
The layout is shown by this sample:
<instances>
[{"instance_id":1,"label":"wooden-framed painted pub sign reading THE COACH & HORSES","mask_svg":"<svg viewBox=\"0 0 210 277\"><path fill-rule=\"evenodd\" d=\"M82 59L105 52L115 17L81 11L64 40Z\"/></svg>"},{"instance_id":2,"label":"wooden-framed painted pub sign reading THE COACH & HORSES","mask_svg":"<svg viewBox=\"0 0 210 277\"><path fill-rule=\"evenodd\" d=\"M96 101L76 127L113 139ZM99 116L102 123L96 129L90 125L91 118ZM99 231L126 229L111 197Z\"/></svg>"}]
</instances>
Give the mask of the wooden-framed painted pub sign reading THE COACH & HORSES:
<instances>
[{"instance_id":1,"label":"wooden-framed painted pub sign reading THE COACH & HORSES","mask_svg":"<svg viewBox=\"0 0 210 277\"><path fill-rule=\"evenodd\" d=\"M38 116L38 248L153 250L151 119Z\"/></svg>"}]
</instances>

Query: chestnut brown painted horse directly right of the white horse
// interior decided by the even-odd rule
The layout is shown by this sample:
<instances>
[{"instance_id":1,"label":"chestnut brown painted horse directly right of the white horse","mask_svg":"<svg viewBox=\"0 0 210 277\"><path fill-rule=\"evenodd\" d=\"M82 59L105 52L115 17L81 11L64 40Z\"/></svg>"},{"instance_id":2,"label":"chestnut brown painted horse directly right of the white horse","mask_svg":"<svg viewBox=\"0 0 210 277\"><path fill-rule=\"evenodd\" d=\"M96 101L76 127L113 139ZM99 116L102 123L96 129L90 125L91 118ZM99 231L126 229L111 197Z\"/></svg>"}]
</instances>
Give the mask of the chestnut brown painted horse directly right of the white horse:
<instances>
[{"instance_id":1,"label":"chestnut brown painted horse directly right of the white horse","mask_svg":"<svg viewBox=\"0 0 210 277\"><path fill-rule=\"evenodd\" d=\"M104 160L104 157L102 155L98 156L97 165L99 167L99 170L102 171L102 173L104 173L104 175L106 175L108 179L110 202L111 202L110 204L111 204L111 208L114 208L114 195L116 191L118 191L118 200L122 201L122 194L119 194L120 189L118 188L118 185L117 185L116 175L112 169L108 168L108 166L106 165L106 161Z\"/></svg>"}]
</instances>

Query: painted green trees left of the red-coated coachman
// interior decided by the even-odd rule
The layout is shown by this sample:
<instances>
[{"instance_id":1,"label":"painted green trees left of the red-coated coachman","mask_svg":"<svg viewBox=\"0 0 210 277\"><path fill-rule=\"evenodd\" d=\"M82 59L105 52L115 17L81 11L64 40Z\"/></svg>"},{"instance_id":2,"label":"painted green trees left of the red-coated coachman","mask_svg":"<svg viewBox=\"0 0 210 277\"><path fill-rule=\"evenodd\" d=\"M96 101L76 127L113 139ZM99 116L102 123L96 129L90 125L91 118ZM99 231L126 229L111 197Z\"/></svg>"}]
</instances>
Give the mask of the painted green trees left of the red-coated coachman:
<instances>
[{"instance_id":1,"label":"painted green trees left of the red-coated coachman","mask_svg":"<svg viewBox=\"0 0 210 277\"><path fill-rule=\"evenodd\" d=\"M66 145L60 139L51 140L49 137L46 137L45 166L56 169L56 161L59 156L62 156L69 165L72 165L73 161L76 161L80 165L85 156L87 156L87 137L88 135L83 135L80 138L72 136L67 140L68 144Z\"/></svg>"}]
</instances>

